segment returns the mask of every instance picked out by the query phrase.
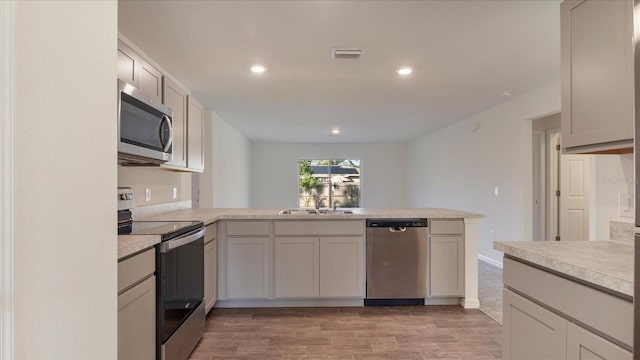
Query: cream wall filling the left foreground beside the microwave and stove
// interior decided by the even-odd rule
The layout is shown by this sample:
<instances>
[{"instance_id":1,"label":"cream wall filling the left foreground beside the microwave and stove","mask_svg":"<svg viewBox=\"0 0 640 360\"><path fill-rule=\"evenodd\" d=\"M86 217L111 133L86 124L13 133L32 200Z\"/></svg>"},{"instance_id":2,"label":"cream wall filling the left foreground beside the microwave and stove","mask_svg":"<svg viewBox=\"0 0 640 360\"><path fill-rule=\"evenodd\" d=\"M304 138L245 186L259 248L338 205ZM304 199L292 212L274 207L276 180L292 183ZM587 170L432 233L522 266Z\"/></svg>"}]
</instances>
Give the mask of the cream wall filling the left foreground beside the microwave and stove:
<instances>
[{"instance_id":1,"label":"cream wall filling the left foreground beside the microwave and stove","mask_svg":"<svg viewBox=\"0 0 640 360\"><path fill-rule=\"evenodd\" d=\"M117 358L116 1L18 1L16 359Z\"/></svg>"}]
</instances>

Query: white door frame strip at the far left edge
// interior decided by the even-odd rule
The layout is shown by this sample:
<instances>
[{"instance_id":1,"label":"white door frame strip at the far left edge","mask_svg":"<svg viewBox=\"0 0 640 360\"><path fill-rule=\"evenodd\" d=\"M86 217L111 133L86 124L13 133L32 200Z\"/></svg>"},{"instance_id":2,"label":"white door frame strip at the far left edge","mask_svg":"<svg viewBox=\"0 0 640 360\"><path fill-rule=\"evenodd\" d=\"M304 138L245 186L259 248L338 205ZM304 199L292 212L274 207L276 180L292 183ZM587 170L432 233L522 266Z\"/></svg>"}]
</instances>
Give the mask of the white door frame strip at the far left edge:
<instances>
[{"instance_id":1,"label":"white door frame strip at the far left edge","mask_svg":"<svg viewBox=\"0 0 640 360\"><path fill-rule=\"evenodd\" d=\"M16 3L0 1L0 358L13 343L13 89Z\"/></svg>"}]
</instances>

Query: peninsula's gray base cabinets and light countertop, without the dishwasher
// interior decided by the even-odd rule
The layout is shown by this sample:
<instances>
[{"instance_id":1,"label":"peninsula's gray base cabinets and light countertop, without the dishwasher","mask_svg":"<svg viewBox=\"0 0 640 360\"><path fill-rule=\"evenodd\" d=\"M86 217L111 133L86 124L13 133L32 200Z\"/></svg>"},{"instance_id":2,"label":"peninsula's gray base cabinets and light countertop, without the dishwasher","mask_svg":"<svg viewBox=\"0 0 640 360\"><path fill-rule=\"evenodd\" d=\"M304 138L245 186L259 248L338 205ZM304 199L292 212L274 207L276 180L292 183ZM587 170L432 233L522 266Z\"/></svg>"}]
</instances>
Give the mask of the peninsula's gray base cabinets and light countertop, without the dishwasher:
<instances>
[{"instance_id":1,"label":"peninsula's gray base cabinets and light countertop, without the dishwasher","mask_svg":"<svg viewBox=\"0 0 640 360\"><path fill-rule=\"evenodd\" d=\"M216 307L362 306L365 222L429 220L426 305L478 308L477 237L481 214L450 209L348 209L313 214L281 209L183 209L136 220L200 220L217 237ZM159 240L158 240L159 241ZM121 235L118 256L153 246Z\"/></svg>"}]
</instances>

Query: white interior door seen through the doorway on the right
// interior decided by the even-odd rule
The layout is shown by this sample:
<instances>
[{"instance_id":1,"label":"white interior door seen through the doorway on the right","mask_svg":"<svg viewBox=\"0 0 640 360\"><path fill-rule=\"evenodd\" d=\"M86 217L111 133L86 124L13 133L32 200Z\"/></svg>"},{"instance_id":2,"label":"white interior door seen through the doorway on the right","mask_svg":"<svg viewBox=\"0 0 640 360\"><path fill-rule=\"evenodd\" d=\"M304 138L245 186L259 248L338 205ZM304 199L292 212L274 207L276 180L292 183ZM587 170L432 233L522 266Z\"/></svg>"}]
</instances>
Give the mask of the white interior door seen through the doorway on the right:
<instances>
[{"instance_id":1,"label":"white interior door seen through the doorway on the right","mask_svg":"<svg viewBox=\"0 0 640 360\"><path fill-rule=\"evenodd\" d=\"M560 240L589 240L589 156L560 158Z\"/></svg>"}]
</instances>

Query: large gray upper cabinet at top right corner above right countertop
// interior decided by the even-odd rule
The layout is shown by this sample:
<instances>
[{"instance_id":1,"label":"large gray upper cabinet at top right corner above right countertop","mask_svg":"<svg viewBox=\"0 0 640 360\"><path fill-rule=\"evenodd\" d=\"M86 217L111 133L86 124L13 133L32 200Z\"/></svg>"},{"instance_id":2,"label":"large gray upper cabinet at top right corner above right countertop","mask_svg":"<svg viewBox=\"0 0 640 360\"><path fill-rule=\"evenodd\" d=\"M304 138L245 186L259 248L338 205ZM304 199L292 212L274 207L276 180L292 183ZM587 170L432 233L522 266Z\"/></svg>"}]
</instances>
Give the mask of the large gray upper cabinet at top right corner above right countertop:
<instances>
[{"instance_id":1,"label":"large gray upper cabinet at top right corner above right countertop","mask_svg":"<svg viewBox=\"0 0 640 360\"><path fill-rule=\"evenodd\" d=\"M562 141L569 153L633 146L633 3L561 4Z\"/></svg>"}]
</instances>

